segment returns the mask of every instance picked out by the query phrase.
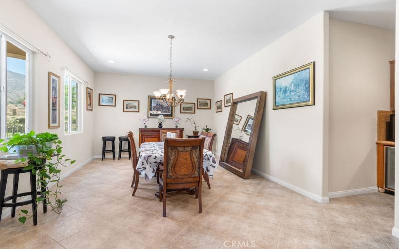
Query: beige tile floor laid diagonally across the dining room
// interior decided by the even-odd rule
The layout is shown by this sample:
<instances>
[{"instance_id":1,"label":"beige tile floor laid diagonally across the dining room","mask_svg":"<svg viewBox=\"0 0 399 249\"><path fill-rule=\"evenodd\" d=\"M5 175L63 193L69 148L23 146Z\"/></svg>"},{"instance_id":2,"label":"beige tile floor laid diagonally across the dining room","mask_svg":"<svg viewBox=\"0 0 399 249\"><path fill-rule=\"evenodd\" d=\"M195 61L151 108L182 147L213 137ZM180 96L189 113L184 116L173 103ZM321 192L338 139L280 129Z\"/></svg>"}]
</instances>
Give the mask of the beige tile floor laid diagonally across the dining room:
<instances>
[{"instance_id":1,"label":"beige tile floor laid diagonally across the dining room","mask_svg":"<svg viewBox=\"0 0 399 249\"><path fill-rule=\"evenodd\" d=\"M394 197L373 193L319 204L253 175L217 169L203 184L203 213L185 192L168 194L167 217L154 197L155 179L140 179L131 196L130 161L94 160L62 181L61 215L38 225L6 218L0 248L399 248L390 235Z\"/></svg>"}]
</instances>

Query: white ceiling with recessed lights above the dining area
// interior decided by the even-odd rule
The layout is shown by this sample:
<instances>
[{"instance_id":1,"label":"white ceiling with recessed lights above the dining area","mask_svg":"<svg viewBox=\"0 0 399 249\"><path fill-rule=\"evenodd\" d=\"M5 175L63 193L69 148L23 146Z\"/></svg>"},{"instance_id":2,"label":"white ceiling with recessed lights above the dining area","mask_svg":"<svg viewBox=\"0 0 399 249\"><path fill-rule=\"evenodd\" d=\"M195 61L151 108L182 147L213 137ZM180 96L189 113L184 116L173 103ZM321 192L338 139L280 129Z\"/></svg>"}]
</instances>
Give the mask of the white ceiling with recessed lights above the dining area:
<instances>
[{"instance_id":1,"label":"white ceiling with recessed lights above the dining area","mask_svg":"<svg viewBox=\"0 0 399 249\"><path fill-rule=\"evenodd\" d=\"M97 72L167 76L173 34L173 75L200 79L214 79L322 10L395 27L395 0L25 2Z\"/></svg>"}]
</instances>

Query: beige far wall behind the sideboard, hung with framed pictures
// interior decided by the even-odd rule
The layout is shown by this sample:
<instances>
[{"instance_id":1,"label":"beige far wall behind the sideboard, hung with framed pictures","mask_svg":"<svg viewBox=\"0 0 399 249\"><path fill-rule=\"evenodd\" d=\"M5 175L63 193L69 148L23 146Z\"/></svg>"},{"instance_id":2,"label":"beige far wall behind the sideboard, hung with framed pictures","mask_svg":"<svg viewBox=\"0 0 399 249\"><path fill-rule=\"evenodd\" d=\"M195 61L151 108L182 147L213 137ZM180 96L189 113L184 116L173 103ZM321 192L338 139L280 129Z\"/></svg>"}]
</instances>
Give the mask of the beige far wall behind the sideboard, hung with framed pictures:
<instances>
[{"instance_id":1,"label":"beige far wall behind the sideboard, hung with framed pictures","mask_svg":"<svg viewBox=\"0 0 399 249\"><path fill-rule=\"evenodd\" d=\"M152 92L160 88L165 88L168 85L167 77L151 77L151 76L136 76L126 74L109 74L96 73L95 74L96 88L95 95L95 135L94 135L94 154L101 155L102 136L123 136L128 131L133 131L136 146L139 144L138 133L139 128L143 124L139 121L140 118L147 118L147 96L153 95ZM175 117L182 118L179 127L184 128L184 134L192 134L193 128L190 123L185 123L185 119L191 117L195 119L200 126L201 131L205 125L213 128L213 114L215 112L213 99L213 81L212 80L196 80L196 79L180 79L177 78L174 83L175 89L186 89L186 102L197 102L197 98L212 99L210 110L196 109L195 114L181 114L180 106L175 108ZM116 107L98 106L98 93L116 94ZM129 113L122 112L122 100L139 100L140 112ZM197 108L197 103L196 103ZM150 119L149 128L156 128L158 126L157 119ZM173 128L172 119L166 119L164 128ZM118 145L116 141L115 146Z\"/></svg>"}]
</instances>

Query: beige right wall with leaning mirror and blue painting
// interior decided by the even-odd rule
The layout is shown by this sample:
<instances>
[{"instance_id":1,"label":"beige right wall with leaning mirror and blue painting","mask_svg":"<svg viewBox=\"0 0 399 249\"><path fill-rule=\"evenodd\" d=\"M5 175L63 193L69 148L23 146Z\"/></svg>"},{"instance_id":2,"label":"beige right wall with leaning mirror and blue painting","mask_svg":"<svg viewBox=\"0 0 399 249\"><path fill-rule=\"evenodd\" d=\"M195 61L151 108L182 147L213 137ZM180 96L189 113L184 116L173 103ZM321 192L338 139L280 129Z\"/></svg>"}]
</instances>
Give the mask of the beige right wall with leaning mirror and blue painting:
<instances>
[{"instance_id":1,"label":"beige right wall with leaning mirror and blue painting","mask_svg":"<svg viewBox=\"0 0 399 249\"><path fill-rule=\"evenodd\" d=\"M255 153L254 168L318 197L326 196L323 187L324 64L325 23L328 13L321 12L252 55L215 80L215 100L233 92L240 97L266 91L264 118ZM315 61L316 105L272 110L272 77ZM230 108L215 113L218 133L216 153L220 154L225 121Z\"/></svg>"}]
</instances>

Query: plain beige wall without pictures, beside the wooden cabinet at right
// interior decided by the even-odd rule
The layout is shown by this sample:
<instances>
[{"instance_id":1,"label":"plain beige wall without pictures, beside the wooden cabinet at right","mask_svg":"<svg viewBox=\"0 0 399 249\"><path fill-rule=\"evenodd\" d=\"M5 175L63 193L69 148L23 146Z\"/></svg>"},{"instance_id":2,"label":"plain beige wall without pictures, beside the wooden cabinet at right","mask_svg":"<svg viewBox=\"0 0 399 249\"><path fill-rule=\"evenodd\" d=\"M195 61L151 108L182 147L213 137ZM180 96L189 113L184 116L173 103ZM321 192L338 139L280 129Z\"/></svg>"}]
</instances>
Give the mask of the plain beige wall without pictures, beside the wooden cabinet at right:
<instances>
[{"instance_id":1,"label":"plain beige wall without pictures, beside the wooden cabinet at right","mask_svg":"<svg viewBox=\"0 0 399 249\"><path fill-rule=\"evenodd\" d=\"M330 20L329 192L376 187L377 110L389 110L395 31Z\"/></svg>"}]
</instances>

